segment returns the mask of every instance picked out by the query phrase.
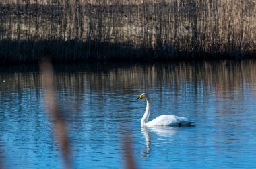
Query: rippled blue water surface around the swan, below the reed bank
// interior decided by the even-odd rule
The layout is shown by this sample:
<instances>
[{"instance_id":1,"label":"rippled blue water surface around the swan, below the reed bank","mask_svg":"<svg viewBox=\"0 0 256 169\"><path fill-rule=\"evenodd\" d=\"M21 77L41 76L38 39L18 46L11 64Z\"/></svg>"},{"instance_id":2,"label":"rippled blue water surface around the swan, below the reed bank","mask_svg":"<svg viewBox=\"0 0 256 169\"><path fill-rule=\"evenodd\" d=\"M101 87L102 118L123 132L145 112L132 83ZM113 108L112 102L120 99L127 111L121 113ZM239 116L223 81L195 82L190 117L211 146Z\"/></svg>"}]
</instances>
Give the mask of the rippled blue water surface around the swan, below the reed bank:
<instances>
[{"instance_id":1,"label":"rippled blue water surface around the swan, below the reed bank","mask_svg":"<svg viewBox=\"0 0 256 169\"><path fill-rule=\"evenodd\" d=\"M55 95L68 125L74 168L123 168L129 133L138 168L255 168L256 60L55 66ZM0 68L4 168L63 168L44 109L37 66ZM194 127L140 125L173 114Z\"/></svg>"}]
</instances>

